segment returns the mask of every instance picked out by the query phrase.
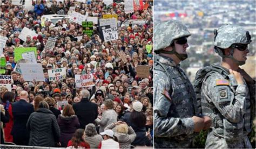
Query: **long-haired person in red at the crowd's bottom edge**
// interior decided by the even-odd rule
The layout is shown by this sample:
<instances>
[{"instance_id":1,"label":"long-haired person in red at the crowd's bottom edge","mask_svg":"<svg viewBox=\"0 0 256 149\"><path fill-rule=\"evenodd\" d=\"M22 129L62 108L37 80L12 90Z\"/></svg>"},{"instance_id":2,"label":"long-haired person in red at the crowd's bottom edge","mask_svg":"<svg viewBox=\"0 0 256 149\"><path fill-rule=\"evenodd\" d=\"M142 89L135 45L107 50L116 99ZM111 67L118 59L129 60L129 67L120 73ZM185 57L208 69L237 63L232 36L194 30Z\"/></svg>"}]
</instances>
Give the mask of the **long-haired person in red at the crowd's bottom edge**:
<instances>
[{"instance_id":1,"label":"long-haired person in red at the crowd's bottom edge","mask_svg":"<svg viewBox=\"0 0 256 149\"><path fill-rule=\"evenodd\" d=\"M77 129L71 140L69 140L67 148L90 148L90 144L87 143L84 138L84 129Z\"/></svg>"}]
</instances>

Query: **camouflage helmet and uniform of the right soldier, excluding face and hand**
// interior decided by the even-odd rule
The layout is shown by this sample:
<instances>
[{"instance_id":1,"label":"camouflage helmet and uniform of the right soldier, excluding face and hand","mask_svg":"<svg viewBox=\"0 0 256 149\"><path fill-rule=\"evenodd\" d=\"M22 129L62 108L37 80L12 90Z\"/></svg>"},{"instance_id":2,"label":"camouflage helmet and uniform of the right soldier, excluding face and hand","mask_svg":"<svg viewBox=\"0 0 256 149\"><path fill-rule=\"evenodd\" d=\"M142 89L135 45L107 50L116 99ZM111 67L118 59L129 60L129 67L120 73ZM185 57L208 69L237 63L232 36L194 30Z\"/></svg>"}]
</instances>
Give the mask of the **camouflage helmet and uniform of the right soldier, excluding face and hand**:
<instances>
[{"instance_id":1,"label":"camouflage helmet and uniform of the right soldier, excluding face and hand","mask_svg":"<svg viewBox=\"0 0 256 149\"><path fill-rule=\"evenodd\" d=\"M226 36L232 33L236 33L234 38ZM248 33L240 26L224 25L220 27L219 33L215 31L214 45L220 48L231 47L233 43L249 44L250 42ZM216 49L218 47L215 47L216 52L225 58L226 55L220 49ZM231 58L231 56L226 57ZM236 61L233 57L232 59L238 64L244 63ZM255 98L250 97L250 92L255 97L255 91L251 87L249 90L245 81L244 84L238 84L234 75L231 75L226 68L217 65L212 65L211 68L215 70L208 70L204 77L198 79L198 76L201 76L208 68L210 67L197 72L195 83L202 82L199 110L201 108L203 115L210 116L213 121L208 131L205 147L252 148L247 134L251 132L251 105L255 102ZM255 89L255 84L250 86Z\"/></svg>"}]
</instances>

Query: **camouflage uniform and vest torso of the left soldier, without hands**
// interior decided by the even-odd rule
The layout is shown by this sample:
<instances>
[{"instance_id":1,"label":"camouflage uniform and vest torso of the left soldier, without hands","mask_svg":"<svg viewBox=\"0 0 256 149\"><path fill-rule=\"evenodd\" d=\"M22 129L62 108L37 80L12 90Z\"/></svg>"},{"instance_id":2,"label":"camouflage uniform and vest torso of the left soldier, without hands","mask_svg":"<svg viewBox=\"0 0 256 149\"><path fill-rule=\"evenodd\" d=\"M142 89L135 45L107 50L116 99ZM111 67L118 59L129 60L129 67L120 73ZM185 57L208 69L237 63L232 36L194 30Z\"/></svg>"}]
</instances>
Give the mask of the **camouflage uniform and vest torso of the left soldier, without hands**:
<instances>
[{"instance_id":1,"label":"camouflage uniform and vest torso of the left soldier, without hands","mask_svg":"<svg viewBox=\"0 0 256 149\"><path fill-rule=\"evenodd\" d=\"M154 147L190 147L194 115L198 115L196 96L184 71L172 59L155 54Z\"/></svg>"}]
</instances>

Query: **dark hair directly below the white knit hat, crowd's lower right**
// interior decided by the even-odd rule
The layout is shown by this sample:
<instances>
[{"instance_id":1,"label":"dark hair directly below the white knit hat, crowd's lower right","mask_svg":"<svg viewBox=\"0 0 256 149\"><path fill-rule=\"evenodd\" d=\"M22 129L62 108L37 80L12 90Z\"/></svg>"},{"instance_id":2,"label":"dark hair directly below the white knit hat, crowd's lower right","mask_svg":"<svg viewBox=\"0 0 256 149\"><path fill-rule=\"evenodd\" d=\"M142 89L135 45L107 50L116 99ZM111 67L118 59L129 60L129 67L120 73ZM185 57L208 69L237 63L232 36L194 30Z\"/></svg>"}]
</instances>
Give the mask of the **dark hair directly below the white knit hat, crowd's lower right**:
<instances>
[{"instance_id":1,"label":"dark hair directly below the white knit hat, crowd's lower right","mask_svg":"<svg viewBox=\"0 0 256 149\"><path fill-rule=\"evenodd\" d=\"M133 124L139 127L144 127L146 125L146 115L143 112L133 110L131 112L130 120Z\"/></svg>"}]
</instances>

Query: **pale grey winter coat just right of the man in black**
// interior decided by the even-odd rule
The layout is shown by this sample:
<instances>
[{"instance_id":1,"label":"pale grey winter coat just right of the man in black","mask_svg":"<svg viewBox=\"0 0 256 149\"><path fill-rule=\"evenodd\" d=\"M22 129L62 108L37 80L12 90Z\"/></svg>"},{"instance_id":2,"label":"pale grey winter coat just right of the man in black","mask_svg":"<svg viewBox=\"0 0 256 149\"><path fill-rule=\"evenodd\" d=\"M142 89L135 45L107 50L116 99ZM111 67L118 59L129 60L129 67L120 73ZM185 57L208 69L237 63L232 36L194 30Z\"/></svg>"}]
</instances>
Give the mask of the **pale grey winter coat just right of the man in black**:
<instances>
[{"instance_id":1,"label":"pale grey winter coat just right of the man in black","mask_svg":"<svg viewBox=\"0 0 256 149\"><path fill-rule=\"evenodd\" d=\"M97 118L95 121L100 125L99 133L103 132L107 125L117 122L117 112L113 109L108 109L103 112L102 119Z\"/></svg>"}]
</instances>

